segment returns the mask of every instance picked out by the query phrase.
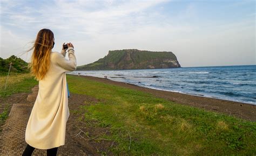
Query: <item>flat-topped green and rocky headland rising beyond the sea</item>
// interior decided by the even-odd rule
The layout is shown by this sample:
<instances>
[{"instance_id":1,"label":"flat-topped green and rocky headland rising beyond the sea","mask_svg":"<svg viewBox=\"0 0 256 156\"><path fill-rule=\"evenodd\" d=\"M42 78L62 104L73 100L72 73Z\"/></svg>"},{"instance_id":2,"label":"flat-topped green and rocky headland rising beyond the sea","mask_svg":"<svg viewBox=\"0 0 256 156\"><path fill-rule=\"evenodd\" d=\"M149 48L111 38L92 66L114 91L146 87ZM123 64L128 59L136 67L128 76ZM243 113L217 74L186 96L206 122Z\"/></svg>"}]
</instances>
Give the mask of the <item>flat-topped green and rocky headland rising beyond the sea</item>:
<instances>
[{"instance_id":1,"label":"flat-topped green and rocky headland rising beyond the sea","mask_svg":"<svg viewBox=\"0 0 256 156\"><path fill-rule=\"evenodd\" d=\"M77 70L160 69L180 67L177 57L167 51L113 50L96 62L77 66Z\"/></svg>"}]
</instances>

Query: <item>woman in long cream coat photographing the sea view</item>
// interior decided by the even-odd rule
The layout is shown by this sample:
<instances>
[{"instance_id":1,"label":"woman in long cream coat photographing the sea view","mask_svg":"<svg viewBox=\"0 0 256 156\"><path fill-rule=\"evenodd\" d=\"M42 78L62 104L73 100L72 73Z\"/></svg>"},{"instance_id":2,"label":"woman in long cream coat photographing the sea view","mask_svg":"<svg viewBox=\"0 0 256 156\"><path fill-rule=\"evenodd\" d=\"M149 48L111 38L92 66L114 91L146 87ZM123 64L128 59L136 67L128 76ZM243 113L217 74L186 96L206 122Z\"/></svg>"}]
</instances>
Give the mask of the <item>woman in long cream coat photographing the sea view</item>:
<instances>
[{"instance_id":1,"label":"woman in long cream coat photographing the sea view","mask_svg":"<svg viewBox=\"0 0 256 156\"><path fill-rule=\"evenodd\" d=\"M68 89L65 72L76 70L73 45L61 53L52 52L55 38L51 30L38 32L33 49L30 72L39 81L39 90L26 126L23 155L31 155L35 148L56 155L65 144L66 121L69 118ZM65 58L68 51L69 60Z\"/></svg>"}]
</instances>

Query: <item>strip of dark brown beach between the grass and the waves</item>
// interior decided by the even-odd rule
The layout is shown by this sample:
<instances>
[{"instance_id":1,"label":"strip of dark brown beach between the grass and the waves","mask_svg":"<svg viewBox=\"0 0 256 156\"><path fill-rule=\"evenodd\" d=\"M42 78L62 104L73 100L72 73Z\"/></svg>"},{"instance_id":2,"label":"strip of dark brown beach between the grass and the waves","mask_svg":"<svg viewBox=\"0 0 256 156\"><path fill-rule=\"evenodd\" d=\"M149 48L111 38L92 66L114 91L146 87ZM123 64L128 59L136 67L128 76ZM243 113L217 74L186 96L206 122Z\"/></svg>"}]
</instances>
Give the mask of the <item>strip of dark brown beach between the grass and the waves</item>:
<instances>
[{"instance_id":1,"label":"strip of dark brown beach between the grass and the waves","mask_svg":"<svg viewBox=\"0 0 256 156\"><path fill-rule=\"evenodd\" d=\"M83 76L83 75L78 76L77 74L71 74L71 75L151 93L156 97L164 98L166 100L170 100L178 104L199 107L208 111L224 113L224 114L227 114L228 116L234 116L241 119L256 121L256 116L255 116L256 105L253 105L253 104L240 103L237 101L216 99L211 97L201 97L201 96L185 94L185 93L151 89L151 88L142 87L142 86L138 86L130 83L116 82L114 80L93 77L93 76Z\"/></svg>"}]
</instances>

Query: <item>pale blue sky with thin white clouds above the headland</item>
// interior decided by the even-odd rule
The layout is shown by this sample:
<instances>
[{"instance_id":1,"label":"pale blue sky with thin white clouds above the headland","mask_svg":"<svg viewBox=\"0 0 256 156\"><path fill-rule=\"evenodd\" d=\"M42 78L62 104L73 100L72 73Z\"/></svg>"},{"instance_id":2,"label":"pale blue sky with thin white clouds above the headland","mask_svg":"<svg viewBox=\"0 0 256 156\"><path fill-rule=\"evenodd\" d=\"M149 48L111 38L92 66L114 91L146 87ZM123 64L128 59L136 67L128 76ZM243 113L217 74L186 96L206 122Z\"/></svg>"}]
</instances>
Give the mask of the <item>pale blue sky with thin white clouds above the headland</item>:
<instances>
[{"instance_id":1,"label":"pale blue sky with thin white clouds above the headland","mask_svg":"<svg viewBox=\"0 0 256 156\"><path fill-rule=\"evenodd\" d=\"M2 58L30 62L46 28L52 51L73 44L77 66L122 49L171 51L181 67L256 64L255 1L0 1Z\"/></svg>"}]
</instances>

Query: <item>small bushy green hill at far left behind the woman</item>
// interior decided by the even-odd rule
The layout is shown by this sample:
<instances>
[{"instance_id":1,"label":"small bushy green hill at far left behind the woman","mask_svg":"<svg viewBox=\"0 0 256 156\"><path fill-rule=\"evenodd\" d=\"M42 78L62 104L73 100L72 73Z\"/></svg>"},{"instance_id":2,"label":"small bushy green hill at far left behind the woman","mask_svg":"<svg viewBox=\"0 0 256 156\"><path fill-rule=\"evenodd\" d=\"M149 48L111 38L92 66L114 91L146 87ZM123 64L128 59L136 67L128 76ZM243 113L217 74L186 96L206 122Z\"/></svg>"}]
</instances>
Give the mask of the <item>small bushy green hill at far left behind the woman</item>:
<instances>
[{"instance_id":1,"label":"small bushy green hill at far left behind the woman","mask_svg":"<svg viewBox=\"0 0 256 156\"><path fill-rule=\"evenodd\" d=\"M0 57L0 74L5 75L8 74L9 68L10 68L10 63L11 64L11 70L10 72L15 72L15 73L28 73L28 63L26 63L23 59L21 58L16 58L16 56L12 55L9 58L3 59Z\"/></svg>"}]
</instances>

